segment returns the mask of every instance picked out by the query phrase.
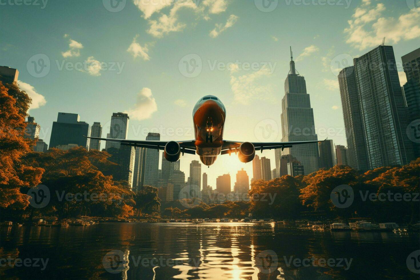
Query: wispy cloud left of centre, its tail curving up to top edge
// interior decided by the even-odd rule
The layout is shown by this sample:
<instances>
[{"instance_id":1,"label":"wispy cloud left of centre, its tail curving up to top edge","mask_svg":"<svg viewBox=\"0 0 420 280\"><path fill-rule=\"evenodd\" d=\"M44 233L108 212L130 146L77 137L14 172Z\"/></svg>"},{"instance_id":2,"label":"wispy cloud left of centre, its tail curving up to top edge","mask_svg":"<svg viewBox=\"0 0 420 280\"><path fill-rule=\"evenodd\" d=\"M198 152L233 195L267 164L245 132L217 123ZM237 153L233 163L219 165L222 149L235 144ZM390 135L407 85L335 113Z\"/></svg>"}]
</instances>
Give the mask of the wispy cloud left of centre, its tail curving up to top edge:
<instances>
[{"instance_id":1,"label":"wispy cloud left of centre, its tail curving up to top edge","mask_svg":"<svg viewBox=\"0 0 420 280\"><path fill-rule=\"evenodd\" d=\"M181 8L196 9L197 5L192 0L186 0L184 2L177 2L171 8L168 15L163 14L157 20L149 20L150 28L147 33L154 37L163 37L164 34L169 32L181 31L185 28L186 24L178 22L177 12Z\"/></svg>"}]
</instances>

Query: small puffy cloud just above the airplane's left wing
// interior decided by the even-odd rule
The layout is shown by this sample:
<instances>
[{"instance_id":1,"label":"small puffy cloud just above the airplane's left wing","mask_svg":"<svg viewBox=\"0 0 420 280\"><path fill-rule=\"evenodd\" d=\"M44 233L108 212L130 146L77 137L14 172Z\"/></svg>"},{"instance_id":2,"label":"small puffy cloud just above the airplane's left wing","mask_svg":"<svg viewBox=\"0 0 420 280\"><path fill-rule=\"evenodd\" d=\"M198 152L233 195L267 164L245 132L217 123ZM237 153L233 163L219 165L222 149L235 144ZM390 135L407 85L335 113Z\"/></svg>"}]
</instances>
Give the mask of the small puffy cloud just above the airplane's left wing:
<instances>
[{"instance_id":1,"label":"small puffy cloud just above the airplane's left wing","mask_svg":"<svg viewBox=\"0 0 420 280\"><path fill-rule=\"evenodd\" d=\"M127 113L130 118L136 120L145 120L150 118L156 111L157 104L155 98L152 95L152 90L144 87L137 94L137 102L134 105L134 108L126 110L124 113Z\"/></svg>"}]
</instances>

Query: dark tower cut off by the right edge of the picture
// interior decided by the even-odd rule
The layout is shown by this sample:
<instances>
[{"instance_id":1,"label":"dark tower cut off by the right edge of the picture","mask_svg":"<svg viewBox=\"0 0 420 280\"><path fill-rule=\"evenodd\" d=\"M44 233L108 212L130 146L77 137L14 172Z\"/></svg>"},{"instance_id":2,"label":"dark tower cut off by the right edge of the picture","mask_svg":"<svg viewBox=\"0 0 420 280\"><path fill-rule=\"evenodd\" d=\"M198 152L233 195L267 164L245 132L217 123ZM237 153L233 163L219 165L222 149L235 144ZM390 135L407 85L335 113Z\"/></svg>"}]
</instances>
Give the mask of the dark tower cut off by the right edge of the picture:
<instances>
[{"instance_id":1,"label":"dark tower cut off by the right edge of the picture","mask_svg":"<svg viewBox=\"0 0 420 280\"><path fill-rule=\"evenodd\" d=\"M407 131L412 141L414 158L420 157L420 48L402 56L407 83L404 96L407 106Z\"/></svg>"}]
</instances>

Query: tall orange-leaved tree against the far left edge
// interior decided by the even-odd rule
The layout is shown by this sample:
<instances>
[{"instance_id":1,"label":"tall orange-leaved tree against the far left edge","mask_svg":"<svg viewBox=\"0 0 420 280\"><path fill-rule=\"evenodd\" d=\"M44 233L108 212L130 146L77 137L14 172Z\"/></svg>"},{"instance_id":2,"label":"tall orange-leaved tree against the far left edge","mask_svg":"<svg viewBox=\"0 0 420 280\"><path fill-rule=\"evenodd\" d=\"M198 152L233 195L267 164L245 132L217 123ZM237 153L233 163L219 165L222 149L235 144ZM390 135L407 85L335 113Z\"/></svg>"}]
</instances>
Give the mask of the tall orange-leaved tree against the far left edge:
<instances>
[{"instance_id":1,"label":"tall orange-leaved tree against the far left edge","mask_svg":"<svg viewBox=\"0 0 420 280\"><path fill-rule=\"evenodd\" d=\"M8 86L11 89L0 82L0 207L25 209L30 198L26 192L40 183L44 170L22 162L35 144L24 138L26 112L32 100L16 84Z\"/></svg>"}]
</instances>

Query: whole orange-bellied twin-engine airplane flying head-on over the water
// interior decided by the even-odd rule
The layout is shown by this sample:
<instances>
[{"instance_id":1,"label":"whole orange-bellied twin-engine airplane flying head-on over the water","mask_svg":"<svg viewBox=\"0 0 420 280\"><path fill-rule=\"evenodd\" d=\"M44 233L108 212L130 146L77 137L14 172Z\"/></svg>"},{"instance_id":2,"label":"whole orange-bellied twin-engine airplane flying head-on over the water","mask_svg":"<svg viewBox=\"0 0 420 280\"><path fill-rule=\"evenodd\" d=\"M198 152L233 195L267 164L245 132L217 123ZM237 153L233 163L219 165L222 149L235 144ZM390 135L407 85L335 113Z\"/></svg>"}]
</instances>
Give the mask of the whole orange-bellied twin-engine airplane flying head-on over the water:
<instances>
[{"instance_id":1,"label":"whole orange-bellied twin-engine airplane flying head-on over the water","mask_svg":"<svg viewBox=\"0 0 420 280\"><path fill-rule=\"evenodd\" d=\"M90 139L120 142L121 145L163 150L163 156L170 162L176 162L181 154L197 154L203 164L210 167L218 155L238 154L241 162L250 162L255 157L255 151L266 149L290 148L293 145L322 142L294 141L294 142L241 142L223 139L223 127L226 120L226 108L214 95L206 95L198 100L192 111L195 139L188 141L156 141L156 140L127 140L100 137Z\"/></svg>"}]
</instances>

